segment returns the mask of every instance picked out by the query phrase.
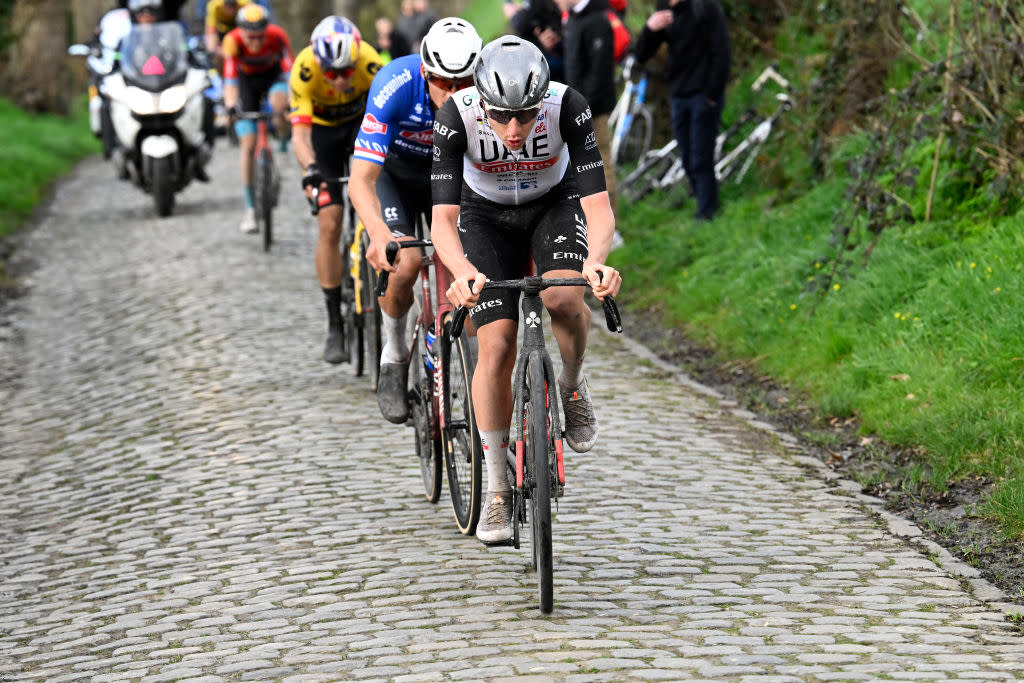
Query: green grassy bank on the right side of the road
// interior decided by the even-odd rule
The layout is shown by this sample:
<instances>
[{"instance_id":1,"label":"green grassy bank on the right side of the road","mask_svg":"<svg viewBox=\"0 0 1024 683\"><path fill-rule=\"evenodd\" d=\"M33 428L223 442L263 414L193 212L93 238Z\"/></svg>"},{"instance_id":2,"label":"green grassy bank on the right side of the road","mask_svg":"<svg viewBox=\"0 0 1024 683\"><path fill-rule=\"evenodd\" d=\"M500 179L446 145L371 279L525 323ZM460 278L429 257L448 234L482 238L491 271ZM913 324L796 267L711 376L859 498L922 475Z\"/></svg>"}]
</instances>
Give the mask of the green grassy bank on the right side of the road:
<instances>
[{"instance_id":1,"label":"green grassy bank on the right side of the road","mask_svg":"<svg viewBox=\"0 0 1024 683\"><path fill-rule=\"evenodd\" d=\"M710 223L689 217L692 203L675 210L655 197L630 207L626 247L612 255L627 310L667 302L666 325L724 357L759 358L823 415L857 416L865 433L919 446L930 485L991 477L998 484L983 511L1020 535L1024 211L988 219L958 212L973 198L944 196L938 219L886 230L866 267L822 293L814 285L828 267L846 182L808 183L776 203L755 175L723 187L723 212Z\"/></svg>"}]
</instances>

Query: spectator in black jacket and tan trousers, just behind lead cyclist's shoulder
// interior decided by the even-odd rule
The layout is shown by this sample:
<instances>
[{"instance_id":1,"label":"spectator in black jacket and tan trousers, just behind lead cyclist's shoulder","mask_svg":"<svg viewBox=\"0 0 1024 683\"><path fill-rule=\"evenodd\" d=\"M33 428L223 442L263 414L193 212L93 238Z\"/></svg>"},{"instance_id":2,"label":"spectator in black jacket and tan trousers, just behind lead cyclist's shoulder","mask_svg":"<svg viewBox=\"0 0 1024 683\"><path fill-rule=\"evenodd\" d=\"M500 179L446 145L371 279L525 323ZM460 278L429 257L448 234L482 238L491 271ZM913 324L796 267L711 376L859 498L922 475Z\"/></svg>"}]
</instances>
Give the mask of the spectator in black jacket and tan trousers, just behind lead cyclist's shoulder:
<instances>
[{"instance_id":1,"label":"spectator in black jacket and tan trousers, just behind lead cyclist's shoulder","mask_svg":"<svg viewBox=\"0 0 1024 683\"><path fill-rule=\"evenodd\" d=\"M608 115L615 108L614 36L608 20L608 0L556 0L567 12L562 25L565 84L579 90L594 117L597 145L604 161L604 180L611 210L618 214L615 171L611 164Z\"/></svg>"}]
</instances>

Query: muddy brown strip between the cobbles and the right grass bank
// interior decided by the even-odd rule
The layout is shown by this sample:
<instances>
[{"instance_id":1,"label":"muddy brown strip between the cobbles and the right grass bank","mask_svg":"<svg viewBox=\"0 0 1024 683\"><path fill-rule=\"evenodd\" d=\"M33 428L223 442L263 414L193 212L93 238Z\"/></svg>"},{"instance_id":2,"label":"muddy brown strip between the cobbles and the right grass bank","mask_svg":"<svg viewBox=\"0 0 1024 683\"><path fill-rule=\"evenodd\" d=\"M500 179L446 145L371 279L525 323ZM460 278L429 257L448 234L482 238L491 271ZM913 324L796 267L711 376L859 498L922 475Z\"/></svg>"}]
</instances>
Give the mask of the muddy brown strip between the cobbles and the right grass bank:
<instances>
[{"instance_id":1,"label":"muddy brown strip between the cobbles and the right grass bank","mask_svg":"<svg viewBox=\"0 0 1024 683\"><path fill-rule=\"evenodd\" d=\"M856 419L816 415L799 395L762 375L751 361L723 361L679 330L665 329L657 311L629 316L629 334L696 381L797 437L808 455L864 494L916 524L925 537L977 568L982 577L1024 605L1024 543L1008 539L977 508L992 488L984 477L964 479L944 492L912 486L902 475L912 452L860 433Z\"/></svg>"}]
</instances>

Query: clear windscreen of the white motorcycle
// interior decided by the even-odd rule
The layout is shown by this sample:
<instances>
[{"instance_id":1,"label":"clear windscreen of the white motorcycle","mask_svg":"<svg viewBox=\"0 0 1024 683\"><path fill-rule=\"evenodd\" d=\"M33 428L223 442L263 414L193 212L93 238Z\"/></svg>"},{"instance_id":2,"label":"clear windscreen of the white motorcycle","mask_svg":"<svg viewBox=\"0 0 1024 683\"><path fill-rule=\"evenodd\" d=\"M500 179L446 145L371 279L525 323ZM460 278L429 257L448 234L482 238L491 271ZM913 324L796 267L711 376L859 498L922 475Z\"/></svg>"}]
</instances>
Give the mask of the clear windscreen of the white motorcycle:
<instances>
[{"instance_id":1,"label":"clear windscreen of the white motorcycle","mask_svg":"<svg viewBox=\"0 0 1024 683\"><path fill-rule=\"evenodd\" d=\"M136 24L121 45L125 82L150 92L183 83L188 72L185 32L177 22Z\"/></svg>"}]
</instances>

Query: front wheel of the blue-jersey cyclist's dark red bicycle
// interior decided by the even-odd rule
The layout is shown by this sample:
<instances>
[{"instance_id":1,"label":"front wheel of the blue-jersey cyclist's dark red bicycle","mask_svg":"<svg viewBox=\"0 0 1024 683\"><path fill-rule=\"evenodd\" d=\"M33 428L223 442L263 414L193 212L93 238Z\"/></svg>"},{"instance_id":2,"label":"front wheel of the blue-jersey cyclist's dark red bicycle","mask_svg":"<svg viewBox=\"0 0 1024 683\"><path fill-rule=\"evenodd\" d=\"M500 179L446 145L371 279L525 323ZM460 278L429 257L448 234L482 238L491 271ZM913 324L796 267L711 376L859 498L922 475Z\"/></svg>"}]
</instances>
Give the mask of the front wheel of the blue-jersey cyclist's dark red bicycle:
<instances>
[{"instance_id":1,"label":"front wheel of the blue-jersey cyclist's dark red bicycle","mask_svg":"<svg viewBox=\"0 0 1024 683\"><path fill-rule=\"evenodd\" d=\"M441 368L444 369L441 400L446 417L441 430L441 449L456 523L463 535L472 536L480 518L483 460L470 390L476 358L469 335L464 331L453 343L449 341L451 329L450 313L444 318L440 336Z\"/></svg>"}]
</instances>

